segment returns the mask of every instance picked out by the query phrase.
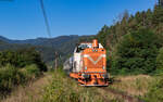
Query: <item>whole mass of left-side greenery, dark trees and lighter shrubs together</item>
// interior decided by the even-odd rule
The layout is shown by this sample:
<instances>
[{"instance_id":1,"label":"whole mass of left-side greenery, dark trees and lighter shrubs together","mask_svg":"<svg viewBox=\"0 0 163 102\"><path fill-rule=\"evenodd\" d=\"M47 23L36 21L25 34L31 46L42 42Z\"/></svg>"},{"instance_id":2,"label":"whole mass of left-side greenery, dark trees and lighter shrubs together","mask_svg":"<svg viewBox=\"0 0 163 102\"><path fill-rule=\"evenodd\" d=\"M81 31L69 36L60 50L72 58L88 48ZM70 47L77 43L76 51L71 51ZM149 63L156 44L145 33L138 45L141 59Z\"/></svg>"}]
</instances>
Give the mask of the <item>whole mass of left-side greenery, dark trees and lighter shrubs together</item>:
<instances>
[{"instance_id":1,"label":"whole mass of left-side greenery, dark trees and lighter shrubs together","mask_svg":"<svg viewBox=\"0 0 163 102\"><path fill-rule=\"evenodd\" d=\"M1 51L0 94L5 95L15 86L24 85L39 77L45 71L47 71L47 66L34 48Z\"/></svg>"}]
</instances>

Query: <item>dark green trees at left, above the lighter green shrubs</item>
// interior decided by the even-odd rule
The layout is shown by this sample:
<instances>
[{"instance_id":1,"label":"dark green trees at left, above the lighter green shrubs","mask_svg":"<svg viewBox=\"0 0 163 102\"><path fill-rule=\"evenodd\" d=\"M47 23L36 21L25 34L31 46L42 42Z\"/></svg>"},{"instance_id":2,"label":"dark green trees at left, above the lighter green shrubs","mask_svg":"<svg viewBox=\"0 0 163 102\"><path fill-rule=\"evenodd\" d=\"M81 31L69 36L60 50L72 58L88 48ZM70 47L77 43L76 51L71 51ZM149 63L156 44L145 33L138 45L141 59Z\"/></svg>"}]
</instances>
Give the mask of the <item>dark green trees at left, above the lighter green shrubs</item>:
<instances>
[{"instance_id":1,"label":"dark green trees at left, above the lighter green shrubs","mask_svg":"<svg viewBox=\"0 0 163 102\"><path fill-rule=\"evenodd\" d=\"M0 52L0 66L11 64L15 67L24 67L26 65L36 64L41 72L47 71L45 63L41 61L40 54L30 49L18 49L15 51L7 50Z\"/></svg>"}]
</instances>

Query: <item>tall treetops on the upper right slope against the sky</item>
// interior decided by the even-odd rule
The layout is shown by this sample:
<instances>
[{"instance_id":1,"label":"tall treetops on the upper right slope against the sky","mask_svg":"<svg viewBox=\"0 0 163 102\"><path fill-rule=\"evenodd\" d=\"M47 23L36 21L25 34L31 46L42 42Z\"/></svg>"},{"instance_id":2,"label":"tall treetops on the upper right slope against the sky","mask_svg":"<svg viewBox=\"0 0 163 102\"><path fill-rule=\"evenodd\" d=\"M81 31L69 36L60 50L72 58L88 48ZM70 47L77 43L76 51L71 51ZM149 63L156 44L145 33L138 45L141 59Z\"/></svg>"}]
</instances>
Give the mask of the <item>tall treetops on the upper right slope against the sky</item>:
<instances>
[{"instance_id":1,"label":"tall treetops on the upper right slope against the sky","mask_svg":"<svg viewBox=\"0 0 163 102\"><path fill-rule=\"evenodd\" d=\"M115 43L121 41L121 38L131 31L140 28L149 28L154 34L163 33L163 8L154 7L154 10L137 12L135 15L129 15L127 11L120 15L112 26L104 25L98 33L97 38L100 42L111 51L114 50Z\"/></svg>"}]
</instances>

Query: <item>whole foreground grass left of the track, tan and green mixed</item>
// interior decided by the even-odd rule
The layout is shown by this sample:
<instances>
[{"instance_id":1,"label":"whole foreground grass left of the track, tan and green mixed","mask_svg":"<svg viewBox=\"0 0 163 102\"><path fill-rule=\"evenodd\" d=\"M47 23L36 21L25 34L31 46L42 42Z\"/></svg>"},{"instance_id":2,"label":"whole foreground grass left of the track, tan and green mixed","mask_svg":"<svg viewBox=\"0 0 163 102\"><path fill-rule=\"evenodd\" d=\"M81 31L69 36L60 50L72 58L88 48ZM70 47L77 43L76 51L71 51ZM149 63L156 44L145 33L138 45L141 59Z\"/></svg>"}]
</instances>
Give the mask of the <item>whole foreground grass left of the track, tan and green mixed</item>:
<instances>
[{"instance_id":1,"label":"whole foreground grass left of the track, tan and green mixed","mask_svg":"<svg viewBox=\"0 0 163 102\"><path fill-rule=\"evenodd\" d=\"M18 87L2 102L108 102L117 101L97 87L80 87L62 71L47 73L26 87Z\"/></svg>"}]
</instances>

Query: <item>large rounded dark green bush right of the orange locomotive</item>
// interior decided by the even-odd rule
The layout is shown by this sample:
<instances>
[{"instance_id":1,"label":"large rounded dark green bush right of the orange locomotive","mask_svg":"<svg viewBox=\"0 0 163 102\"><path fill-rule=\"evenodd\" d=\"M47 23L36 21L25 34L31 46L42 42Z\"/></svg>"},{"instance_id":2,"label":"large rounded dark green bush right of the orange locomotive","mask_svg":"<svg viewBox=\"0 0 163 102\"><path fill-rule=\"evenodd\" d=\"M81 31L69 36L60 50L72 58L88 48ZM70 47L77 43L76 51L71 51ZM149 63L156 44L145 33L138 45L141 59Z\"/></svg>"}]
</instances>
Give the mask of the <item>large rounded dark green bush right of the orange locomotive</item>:
<instances>
[{"instance_id":1,"label":"large rounded dark green bush right of the orange locomotive","mask_svg":"<svg viewBox=\"0 0 163 102\"><path fill-rule=\"evenodd\" d=\"M148 29L124 36L112 60L112 73L150 74L155 71L161 40Z\"/></svg>"}]
</instances>

